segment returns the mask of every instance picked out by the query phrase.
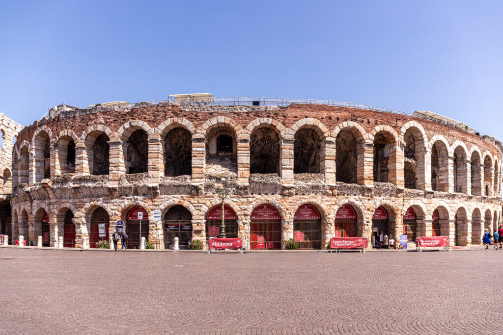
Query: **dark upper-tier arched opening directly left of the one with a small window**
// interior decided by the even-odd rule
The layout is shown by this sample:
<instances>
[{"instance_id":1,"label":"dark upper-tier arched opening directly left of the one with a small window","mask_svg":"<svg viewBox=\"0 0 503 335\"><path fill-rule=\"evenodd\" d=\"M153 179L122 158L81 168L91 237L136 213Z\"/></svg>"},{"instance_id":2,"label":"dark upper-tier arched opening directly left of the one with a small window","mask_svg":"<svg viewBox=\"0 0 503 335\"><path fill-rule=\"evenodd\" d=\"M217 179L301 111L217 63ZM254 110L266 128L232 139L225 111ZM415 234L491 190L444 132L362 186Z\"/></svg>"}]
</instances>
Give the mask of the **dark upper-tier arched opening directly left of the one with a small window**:
<instances>
[{"instance_id":1,"label":"dark upper-tier arched opening directly left of the one with a small window","mask_svg":"<svg viewBox=\"0 0 503 335\"><path fill-rule=\"evenodd\" d=\"M192 135L182 127L173 128L164 137L164 175L192 174Z\"/></svg>"}]
</instances>

